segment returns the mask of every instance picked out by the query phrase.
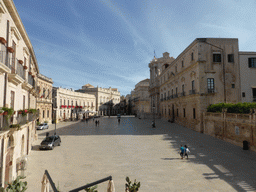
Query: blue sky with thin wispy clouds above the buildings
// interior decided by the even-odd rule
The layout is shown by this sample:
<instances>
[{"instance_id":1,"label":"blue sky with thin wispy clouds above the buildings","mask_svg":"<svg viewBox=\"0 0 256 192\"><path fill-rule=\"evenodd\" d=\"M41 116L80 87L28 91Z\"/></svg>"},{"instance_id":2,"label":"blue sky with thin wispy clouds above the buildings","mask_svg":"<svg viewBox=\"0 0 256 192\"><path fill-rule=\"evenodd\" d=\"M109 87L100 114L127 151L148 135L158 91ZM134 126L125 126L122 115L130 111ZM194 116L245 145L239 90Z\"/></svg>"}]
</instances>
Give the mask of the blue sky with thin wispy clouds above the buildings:
<instances>
[{"instance_id":1,"label":"blue sky with thin wispy clouds above the buildings","mask_svg":"<svg viewBox=\"0 0 256 192\"><path fill-rule=\"evenodd\" d=\"M14 0L40 73L54 86L90 83L130 93L148 63L195 38L238 38L256 51L255 0Z\"/></svg>"}]
</instances>

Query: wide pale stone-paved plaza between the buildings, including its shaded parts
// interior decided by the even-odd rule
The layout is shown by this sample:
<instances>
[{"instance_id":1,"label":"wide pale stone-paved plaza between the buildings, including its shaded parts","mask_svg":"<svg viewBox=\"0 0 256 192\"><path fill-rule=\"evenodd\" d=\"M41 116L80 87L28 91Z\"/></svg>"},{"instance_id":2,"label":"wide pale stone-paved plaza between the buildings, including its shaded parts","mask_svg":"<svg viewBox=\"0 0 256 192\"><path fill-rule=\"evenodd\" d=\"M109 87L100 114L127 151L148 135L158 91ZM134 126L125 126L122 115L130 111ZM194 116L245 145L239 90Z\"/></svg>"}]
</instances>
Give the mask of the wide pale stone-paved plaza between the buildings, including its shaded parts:
<instances>
[{"instance_id":1,"label":"wide pale stone-paved plaza between the buildings, including its shaded parts","mask_svg":"<svg viewBox=\"0 0 256 192\"><path fill-rule=\"evenodd\" d=\"M112 176L116 192L125 178L141 182L140 192L169 191L256 191L256 154L241 147L197 133L164 120L135 117L100 118L57 124L61 146L40 151L38 146L49 130L37 131L28 158L28 192L39 192L47 169L60 191L65 192ZM180 159L180 145L190 148L189 159ZM107 191L107 182L98 185Z\"/></svg>"}]
</instances>

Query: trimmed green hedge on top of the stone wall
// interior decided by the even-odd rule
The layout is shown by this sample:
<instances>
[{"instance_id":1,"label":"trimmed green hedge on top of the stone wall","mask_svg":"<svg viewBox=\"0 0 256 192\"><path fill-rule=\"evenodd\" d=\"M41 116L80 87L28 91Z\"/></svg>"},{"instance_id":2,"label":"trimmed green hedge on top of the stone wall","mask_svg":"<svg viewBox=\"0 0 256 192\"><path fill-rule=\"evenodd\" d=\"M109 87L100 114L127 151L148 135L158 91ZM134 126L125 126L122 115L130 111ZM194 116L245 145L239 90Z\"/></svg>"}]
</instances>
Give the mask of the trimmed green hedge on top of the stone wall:
<instances>
[{"instance_id":1,"label":"trimmed green hedge on top of the stone wall","mask_svg":"<svg viewBox=\"0 0 256 192\"><path fill-rule=\"evenodd\" d=\"M217 103L207 107L207 112L222 112L226 108L228 113L250 113L251 109L256 108L256 103Z\"/></svg>"}]
</instances>

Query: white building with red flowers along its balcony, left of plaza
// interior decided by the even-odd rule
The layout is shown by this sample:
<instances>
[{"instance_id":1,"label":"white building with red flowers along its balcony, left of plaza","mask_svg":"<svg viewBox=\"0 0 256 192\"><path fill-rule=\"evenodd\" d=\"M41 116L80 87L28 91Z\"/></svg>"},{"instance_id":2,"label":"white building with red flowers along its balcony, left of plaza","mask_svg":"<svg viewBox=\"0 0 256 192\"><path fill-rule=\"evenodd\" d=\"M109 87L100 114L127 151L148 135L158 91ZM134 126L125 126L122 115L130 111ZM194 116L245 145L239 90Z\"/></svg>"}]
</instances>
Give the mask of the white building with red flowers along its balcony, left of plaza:
<instances>
[{"instance_id":1,"label":"white building with red flowers along its balcony, left of plaza","mask_svg":"<svg viewBox=\"0 0 256 192\"><path fill-rule=\"evenodd\" d=\"M72 89L53 87L53 116L58 121L81 119L96 114L96 98ZM56 115L56 116L55 116Z\"/></svg>"}]
</instances>

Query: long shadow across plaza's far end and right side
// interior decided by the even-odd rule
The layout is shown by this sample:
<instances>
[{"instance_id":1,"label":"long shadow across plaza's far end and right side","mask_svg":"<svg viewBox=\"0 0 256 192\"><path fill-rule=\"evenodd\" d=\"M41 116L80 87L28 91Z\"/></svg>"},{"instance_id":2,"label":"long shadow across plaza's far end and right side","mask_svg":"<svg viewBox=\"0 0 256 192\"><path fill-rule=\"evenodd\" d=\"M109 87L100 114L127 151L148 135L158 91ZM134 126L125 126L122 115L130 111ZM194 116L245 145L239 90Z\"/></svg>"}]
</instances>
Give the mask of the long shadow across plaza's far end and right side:
<instances>
[{"instance_id":1,"label":"long shadow across plaza's far end and right side","mask_svg":"<svg viewBox=\"0 0 256 192\"><path fill-rule=\"evenodd\" d=\"M241 147L214 137L195 132L183 126L156 120L156 128L151 127L149 119L121 118L118 124L116 118L99 118L99 126L91 119L57 129L60 136L92 136L92 135L163 135L163 140L170 143L170 148L179 151L180 145L188 145L193 158L161 158L165 161L186 161L187 163L203 164L214 173L203 173L207 180L221 179L237 191L256 191L256 153L244 151ZM58 125L57 125L58 127ZM50 135L54 134L49 131ZM45 135L45 133L39 133Z\"/></svg>"}]
</instances>

